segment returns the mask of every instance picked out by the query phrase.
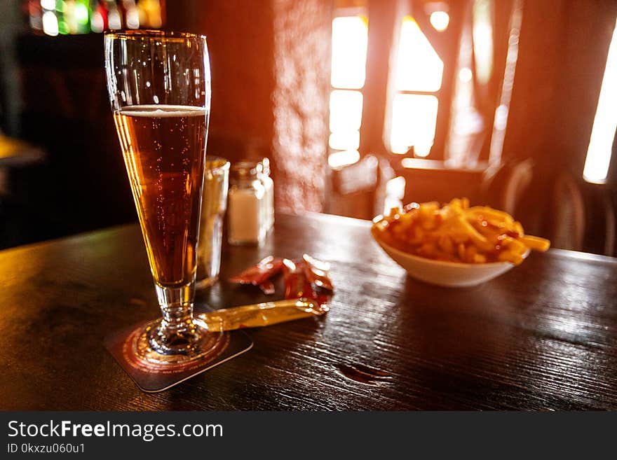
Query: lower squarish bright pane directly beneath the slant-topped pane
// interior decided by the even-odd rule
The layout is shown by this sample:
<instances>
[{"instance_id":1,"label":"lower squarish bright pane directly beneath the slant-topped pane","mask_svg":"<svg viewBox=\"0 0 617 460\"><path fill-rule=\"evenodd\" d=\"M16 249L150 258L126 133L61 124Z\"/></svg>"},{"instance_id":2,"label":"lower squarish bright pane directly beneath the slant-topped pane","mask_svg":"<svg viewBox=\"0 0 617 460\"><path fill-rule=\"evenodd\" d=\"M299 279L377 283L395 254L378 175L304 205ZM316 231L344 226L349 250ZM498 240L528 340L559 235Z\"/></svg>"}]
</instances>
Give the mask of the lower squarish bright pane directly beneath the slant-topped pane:
<instances>
[{"instance_id":1,"label":"lower squarish bright pane directly beneath the slant-topped pane","mask_svg":"<svg viewBox=\"0 0 617 460\"><path fill-rule=\"evenodd\" d=\"M396 95L392 105L392 153L407 153L414 146L416 156L426 157L435 138L438 100L430 95Z\"/></svg>"}]
</instances>

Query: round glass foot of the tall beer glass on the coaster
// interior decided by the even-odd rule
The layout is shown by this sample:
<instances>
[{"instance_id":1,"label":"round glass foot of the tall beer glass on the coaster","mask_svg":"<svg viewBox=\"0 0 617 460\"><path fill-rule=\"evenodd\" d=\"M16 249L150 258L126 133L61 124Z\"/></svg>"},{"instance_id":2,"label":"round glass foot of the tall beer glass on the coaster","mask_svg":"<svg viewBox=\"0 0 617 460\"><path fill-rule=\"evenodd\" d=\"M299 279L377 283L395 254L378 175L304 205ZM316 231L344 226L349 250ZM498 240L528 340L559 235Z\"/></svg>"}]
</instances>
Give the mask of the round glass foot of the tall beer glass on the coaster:
<instances>
[{"instance_id":1,"label":"round glass foot of the tall beer glass on the coaster","mask_svg":"<svg viewBox=\"0 0 617 460\"><path fill-rule=\"evenodd\" d=\"M186 330L163 334L161 319L149 323L134 336L135 358L147 365L184 365L211 360L226 347L224 333L210 332L205 323L194 319Z\"/></svg>"}]
</instances>

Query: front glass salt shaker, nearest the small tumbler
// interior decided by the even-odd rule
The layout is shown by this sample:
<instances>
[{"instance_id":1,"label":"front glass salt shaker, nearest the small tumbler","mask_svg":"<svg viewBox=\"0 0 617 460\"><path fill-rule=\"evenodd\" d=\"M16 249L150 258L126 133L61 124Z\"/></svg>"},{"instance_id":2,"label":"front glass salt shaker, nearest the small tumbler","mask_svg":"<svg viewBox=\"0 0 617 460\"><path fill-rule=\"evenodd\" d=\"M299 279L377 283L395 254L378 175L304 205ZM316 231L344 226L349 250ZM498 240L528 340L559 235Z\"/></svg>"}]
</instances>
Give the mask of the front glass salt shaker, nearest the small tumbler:
<instances>
[{"instance_id":1,"label":"front glass salt shaker, nearest the small tumbler","mask_svg":"<svg viewBox=\"0 0 617 460\"><path fill-rule=\"evenodd\" d=\"M227 204L229 244L260 244L266 236L262 163L238 162L231 167Z\"/></svg>"}]
</instances>

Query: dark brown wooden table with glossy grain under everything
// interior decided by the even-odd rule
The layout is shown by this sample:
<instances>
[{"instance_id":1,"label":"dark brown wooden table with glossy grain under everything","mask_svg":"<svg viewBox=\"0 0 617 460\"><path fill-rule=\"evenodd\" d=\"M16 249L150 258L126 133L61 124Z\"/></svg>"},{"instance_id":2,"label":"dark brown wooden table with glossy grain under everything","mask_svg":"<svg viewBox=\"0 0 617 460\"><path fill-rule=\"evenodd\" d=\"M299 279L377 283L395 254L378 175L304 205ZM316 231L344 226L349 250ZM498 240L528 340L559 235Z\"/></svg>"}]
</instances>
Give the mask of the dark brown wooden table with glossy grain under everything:
<instances>
[{"instance_id":1,"label":"dark brown wooden table with glossy grain under everything","mask_svg":"<svg viewBox=\"0 0 617 460\"><path fill-rule=\"evenodd\" d=\"M368 222L278 216L262 248L224 249L222 278L303 252L332 262L330 313L249 330L252 350L154 394L102 344L158 314L136 225L0 252L0 408L617 409L617 259L551 250L439 288L409 279ZM263 299L222 282L196 304Z\"/></svg>"}]
</instances>

